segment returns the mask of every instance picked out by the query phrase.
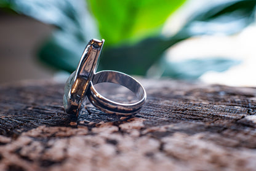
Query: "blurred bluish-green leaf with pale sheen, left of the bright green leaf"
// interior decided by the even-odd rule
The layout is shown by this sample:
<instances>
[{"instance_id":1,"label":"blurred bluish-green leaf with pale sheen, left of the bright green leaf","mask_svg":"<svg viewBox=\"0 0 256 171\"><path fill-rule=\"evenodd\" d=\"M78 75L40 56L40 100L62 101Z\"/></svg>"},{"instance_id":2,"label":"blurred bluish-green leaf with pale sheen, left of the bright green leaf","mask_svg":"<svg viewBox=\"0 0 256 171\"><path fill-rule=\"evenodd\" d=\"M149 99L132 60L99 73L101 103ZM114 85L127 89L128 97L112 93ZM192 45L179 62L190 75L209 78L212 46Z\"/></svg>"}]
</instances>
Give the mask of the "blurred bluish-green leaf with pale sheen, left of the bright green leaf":
<instances>
[{"instance_id":1,"label":"blurred bluish-green leaf with pale sheen, left of the bright green leaf","mask_svg":"<svg viewBox=\"0 0 256 171\"><path fill-rule=\"evenodd\" d=\"M74 71L82 50L98 29L83 0L5 0L10 9L56 26L39 50L39 58L55 68Z\"/></svg>"}]
</instances>

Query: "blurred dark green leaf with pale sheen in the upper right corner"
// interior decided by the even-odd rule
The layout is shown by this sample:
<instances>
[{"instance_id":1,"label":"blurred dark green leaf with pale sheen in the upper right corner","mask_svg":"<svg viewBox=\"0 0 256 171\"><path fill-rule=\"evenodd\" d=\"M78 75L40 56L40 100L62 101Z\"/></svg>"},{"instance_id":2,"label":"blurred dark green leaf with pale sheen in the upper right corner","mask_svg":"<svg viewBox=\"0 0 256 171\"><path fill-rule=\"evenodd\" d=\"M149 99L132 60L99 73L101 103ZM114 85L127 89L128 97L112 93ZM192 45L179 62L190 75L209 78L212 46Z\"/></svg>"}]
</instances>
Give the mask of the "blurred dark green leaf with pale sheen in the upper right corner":
<instances>
[{"instance_id":1,"label":"blurred dark green leaf with pale sheen in the upper right corner","mask_svg":"<svg viewBox=\"0 0 256 171\"><path fill-rule=\"evenodd\" d=\"M188 38L204 34L236 34L255 22L255 6L255 0L218 2L195 13L178 34Z\"/></svg>"}]
</instances>

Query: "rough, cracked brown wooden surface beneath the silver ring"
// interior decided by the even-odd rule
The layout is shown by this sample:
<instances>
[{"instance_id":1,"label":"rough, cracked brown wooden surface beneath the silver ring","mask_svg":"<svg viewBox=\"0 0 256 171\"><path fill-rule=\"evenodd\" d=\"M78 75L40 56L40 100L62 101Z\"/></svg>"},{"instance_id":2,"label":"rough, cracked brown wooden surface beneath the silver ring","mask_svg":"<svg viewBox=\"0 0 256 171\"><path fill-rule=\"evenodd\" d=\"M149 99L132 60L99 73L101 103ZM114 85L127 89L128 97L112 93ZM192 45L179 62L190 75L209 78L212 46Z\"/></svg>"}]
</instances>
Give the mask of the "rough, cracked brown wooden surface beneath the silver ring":
<instances>
[{"instance_id":1,"label":"rough, cracked brown wooden surface beneath the silver ring","mask_svg":"<svg viewBox=\"0 0 256 171\"><path fill-rule=\"evenodd\" d=\"M142 84L134 117L89 105L78 119L63 111L63 84L1 85L0 170L256 170L255 88Z\"/></svg>"}]
</instances>

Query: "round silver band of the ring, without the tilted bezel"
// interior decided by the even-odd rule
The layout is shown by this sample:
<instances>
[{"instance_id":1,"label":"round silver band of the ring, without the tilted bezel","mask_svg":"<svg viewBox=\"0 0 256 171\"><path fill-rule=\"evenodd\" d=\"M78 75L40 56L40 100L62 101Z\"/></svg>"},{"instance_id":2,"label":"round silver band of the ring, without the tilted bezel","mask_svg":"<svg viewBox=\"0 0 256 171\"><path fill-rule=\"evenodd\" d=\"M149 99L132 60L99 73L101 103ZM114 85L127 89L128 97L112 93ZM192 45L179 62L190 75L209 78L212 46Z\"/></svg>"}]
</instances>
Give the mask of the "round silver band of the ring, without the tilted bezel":
<instances>
[{"instance_id":1,"label":"round silver band of the ring, without the tilted bezel","mask_svg":"<svg viewBox=\"0 0 256 171\"><path fill-rule=\"evenodd\" d=\"M138 98L135 103L118 103L103 97L95 90L94 85L102 82L119 84L130 89ZM136 113L146 100L146 92L143 86L131 76L118 71L100 71L95 73L87 90L87 97L90 102L106 113L121 114L129 116Z\"/></svg>"}]
</instances>

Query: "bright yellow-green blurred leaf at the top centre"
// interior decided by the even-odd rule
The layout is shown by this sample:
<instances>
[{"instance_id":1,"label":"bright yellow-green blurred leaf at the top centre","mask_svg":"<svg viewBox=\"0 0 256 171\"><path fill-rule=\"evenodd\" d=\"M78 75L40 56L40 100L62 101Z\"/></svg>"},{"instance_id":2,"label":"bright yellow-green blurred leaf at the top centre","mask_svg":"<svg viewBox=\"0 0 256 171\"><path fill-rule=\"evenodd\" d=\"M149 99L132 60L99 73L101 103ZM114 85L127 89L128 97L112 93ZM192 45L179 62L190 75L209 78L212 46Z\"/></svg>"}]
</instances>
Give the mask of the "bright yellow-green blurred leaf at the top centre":
<instances>
[{"instance_id":1,"label":"bright yellow-green blurred leaf at the top centre","mask_svg":"<svg viewBox=\"0 0 256 171\"><path fill-rule=\"evenodd\" d=\"M166 19L185 0L87 0L108 44L136 42L156 36Z\"/></svg>"}]
</instances>

